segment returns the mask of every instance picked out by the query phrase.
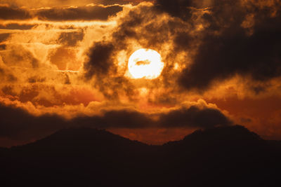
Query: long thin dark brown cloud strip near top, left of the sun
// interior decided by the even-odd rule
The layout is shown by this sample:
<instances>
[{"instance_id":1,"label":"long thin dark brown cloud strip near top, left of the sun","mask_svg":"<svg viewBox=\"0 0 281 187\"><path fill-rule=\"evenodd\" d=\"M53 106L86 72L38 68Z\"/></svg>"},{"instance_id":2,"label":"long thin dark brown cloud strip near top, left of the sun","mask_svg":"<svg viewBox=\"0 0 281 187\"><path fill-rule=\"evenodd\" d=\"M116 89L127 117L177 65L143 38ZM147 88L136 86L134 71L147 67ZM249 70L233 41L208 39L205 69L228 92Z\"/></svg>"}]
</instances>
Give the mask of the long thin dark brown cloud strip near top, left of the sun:
<instances>
[{"instance_id":1,"label":"long thin dark brown cloud strip near top, left of the sun","mask_svg":"<svg viewBox=\"0 0 281 187\"><path fill-rule=\"evenodd\" d=\"M50 8L37 11L39 20L107 20L112 15L122 11L122 6L84 6L70 8Z\"/></svg>"}]
</instances>

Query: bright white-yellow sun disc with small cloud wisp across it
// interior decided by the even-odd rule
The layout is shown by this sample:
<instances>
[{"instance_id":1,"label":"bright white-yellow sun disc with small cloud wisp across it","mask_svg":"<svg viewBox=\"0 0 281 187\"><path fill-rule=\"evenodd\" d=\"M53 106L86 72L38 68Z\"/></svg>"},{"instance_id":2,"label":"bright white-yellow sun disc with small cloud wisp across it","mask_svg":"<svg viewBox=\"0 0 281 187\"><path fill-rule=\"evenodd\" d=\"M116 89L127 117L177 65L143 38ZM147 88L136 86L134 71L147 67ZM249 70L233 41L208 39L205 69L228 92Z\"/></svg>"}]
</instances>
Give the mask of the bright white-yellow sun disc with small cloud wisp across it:
<instances>
[{"instance_id":1,"label":"bright white-yellow sun disc with small cloud wisp across it","mask_svg":"<svg viewBox=\"0 0 281 187\"><path fill-rule=\"evenodd\" d=\"M155 50L141 48L129 57L128 69L133 78L154 79L163 68L162 57Z\"/></svg>"}]
</instances>

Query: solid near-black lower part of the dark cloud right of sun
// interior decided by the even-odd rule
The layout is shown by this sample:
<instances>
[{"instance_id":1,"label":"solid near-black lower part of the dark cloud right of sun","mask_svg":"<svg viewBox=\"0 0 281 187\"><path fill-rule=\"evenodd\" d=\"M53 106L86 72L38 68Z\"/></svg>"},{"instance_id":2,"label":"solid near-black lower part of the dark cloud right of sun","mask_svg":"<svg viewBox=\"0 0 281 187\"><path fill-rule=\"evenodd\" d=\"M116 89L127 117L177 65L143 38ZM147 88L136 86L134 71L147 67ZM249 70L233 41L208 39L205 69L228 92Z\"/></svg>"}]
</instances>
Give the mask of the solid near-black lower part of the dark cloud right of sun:
<instances>
[{"instance_id":1,"label":"solid near-black lower part of the dark cloud right of sun","mask_svg":"<svg viewBox=\"0 0 281 187\"><path fill-rule=\"evenodd\" d=\"M194 63L183 71L181 85L204 90L212 81L235 74L249 75L256 81L281 76L280 31L277 28L247 36L241 30L219 38L206 36Z\"/></svg>"}]
</instances>

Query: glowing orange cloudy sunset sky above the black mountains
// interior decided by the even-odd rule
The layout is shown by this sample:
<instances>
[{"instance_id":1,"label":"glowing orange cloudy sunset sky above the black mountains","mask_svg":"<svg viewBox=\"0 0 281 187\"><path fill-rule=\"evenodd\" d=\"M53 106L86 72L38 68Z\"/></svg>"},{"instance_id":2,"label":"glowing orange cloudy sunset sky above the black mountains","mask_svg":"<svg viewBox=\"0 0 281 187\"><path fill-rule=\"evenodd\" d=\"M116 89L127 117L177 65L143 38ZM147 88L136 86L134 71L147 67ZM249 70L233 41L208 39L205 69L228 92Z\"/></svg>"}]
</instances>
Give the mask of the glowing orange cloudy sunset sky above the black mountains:
<instances>
[{"instance_id":1,"label":"glowing orange cloudy sunset sky above the black mountains","mask_svg":"<svg viewBox=\"0 0 281 187\"><path fill-rule=\"evenodd\" d=\"M159 76L131 74L139 49L161 56ZM281 139L280 0L0 0L0 146L236 124Z\"/></svg>"}]
</instances>

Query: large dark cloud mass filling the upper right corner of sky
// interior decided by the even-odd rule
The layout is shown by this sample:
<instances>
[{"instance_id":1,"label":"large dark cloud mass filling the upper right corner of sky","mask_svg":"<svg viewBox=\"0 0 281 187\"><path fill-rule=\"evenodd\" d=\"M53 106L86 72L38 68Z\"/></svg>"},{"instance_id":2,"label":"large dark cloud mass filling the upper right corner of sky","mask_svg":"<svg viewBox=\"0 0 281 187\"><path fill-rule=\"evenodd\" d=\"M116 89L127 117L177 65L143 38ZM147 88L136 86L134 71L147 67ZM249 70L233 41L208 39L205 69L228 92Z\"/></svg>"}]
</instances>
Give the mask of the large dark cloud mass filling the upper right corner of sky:
<instances>
[{"instance_id":1,"label":"large dark cloud mass filling the upper right corner of sky","mask_svg":"<svg viewBox=\"0 0 281 187\"><path fill-rule=\"evenodd\" d=\"M191 64L187 60L178 78L183 88L204 91L235 75L260 83L281 76L280 1L157 0L155 10L190 24L185 31L170 32L175 54L192 53ZM204 29L194 34L197 24Z\"/></svg>"}]
</instances>

